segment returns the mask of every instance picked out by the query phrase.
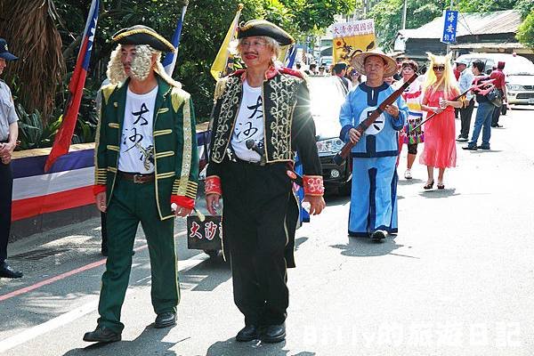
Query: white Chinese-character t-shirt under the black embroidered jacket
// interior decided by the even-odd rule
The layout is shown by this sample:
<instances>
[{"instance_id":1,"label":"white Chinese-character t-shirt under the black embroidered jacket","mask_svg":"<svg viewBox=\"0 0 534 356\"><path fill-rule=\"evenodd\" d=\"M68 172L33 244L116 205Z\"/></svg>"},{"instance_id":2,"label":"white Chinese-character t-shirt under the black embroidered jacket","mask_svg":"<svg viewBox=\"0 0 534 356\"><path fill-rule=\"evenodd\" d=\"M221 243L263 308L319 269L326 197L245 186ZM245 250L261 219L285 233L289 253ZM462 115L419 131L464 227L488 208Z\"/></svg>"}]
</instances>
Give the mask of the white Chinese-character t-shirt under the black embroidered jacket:
<instances>
[{"instance_id":1,"label":"white Chinese-character t-shirt under the black embroidered jacket","mask_svg":"<svg viewBox=\"0 0 534 356\"><path fill-rule=\"evenodd\" d=\"M231 135L231 147L238 158L259 162L261 156L255 150L247 149L248 140L254 140L258 149L263 152L262 87L253 88L245 81L243 83L243 99Z\"/></svg>"}]
</instances>

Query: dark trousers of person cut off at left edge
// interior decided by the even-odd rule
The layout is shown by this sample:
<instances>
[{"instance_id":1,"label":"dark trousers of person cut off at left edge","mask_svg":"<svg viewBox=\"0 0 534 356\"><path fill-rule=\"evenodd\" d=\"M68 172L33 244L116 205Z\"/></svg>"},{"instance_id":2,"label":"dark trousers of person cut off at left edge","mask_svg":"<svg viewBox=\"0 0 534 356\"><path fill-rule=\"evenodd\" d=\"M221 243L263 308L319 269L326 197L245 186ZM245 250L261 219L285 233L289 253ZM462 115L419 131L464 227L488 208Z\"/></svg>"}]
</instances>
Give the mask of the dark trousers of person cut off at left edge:
<instances>
[{"instance_id":1,"label":"dark trousers of person cut off at left edge","mask_svg":"<svg viewBox=\"0 0 534 356\"><path fill-rule=\"evenodd\" d=\"M13 176L11 163L0 162L0 263L7 258L7 240L11 230Z\"/></svg>"}]
</instances>

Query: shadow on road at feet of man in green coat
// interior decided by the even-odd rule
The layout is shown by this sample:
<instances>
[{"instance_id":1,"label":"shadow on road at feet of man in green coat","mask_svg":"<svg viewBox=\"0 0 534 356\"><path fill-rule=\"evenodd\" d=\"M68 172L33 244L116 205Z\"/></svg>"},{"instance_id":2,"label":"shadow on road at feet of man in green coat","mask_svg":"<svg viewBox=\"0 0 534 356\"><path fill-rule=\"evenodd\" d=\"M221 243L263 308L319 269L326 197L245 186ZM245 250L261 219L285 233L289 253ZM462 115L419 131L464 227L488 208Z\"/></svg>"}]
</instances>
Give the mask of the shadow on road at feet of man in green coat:
<instances>
[{"instance_id":1,"label":"shadow on road at feet of man in green coat","mask_svg":"<svg viewBox=\"0 0 534 356\"><path fill-rule=\"evenodd\" d=\"M87 347L73 349L63 354L63 356L101 356L101 355L139 355L140 350L150 350L150 354L175 355L176 352L170 350L177 343L163 342L165 336L171 328L157 329L151 326L146 327L140 336L132 341L119 341L113 344L89 344Z\"/></svg>"}]
</instances>

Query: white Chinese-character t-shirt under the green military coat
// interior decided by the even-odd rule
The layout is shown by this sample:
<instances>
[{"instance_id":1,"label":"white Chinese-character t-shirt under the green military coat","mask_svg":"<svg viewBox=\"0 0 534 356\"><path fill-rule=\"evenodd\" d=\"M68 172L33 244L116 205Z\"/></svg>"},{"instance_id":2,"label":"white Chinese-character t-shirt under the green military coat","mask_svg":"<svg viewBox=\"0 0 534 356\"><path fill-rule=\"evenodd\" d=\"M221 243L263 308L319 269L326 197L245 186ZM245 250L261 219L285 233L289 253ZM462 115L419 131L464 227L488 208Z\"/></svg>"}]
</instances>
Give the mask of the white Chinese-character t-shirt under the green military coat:
<instances>
[{"instance_id":1,"label":"white Chinese-character t-shirt under the green military coat","mask_svg":"<svg viewBox=\"0 0 534 356\"><path fill-rule=\"evenodd\" d=\"M129 173L150 174L154 172L154 137L152 123L158 86L149 93L126 93L125 121L118 170Z\"/></svg>"}]
</instances>

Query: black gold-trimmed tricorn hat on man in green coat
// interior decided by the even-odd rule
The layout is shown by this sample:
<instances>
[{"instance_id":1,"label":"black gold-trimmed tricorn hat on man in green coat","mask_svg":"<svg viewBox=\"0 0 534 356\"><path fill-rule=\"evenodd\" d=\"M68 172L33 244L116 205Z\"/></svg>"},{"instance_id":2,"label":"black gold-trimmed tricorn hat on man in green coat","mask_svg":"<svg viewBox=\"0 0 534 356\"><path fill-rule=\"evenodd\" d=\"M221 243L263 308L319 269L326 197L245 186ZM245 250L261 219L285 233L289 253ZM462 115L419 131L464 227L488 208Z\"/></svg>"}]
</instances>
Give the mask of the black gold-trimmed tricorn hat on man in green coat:
<instances>
[{"instance_id":1,"label":"black gold-trimmed tricorn hat on man in green coat","mask_svg":"<svg viewBox=\"0 0 534 356\"><path fill-rule=\"evenodd\" d=\"M148 44L157 51L176 52L173 44L154 29L143 25L120 29L111 39L118 44Z\"/></svg>"}]
</instances>

